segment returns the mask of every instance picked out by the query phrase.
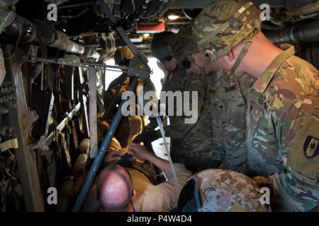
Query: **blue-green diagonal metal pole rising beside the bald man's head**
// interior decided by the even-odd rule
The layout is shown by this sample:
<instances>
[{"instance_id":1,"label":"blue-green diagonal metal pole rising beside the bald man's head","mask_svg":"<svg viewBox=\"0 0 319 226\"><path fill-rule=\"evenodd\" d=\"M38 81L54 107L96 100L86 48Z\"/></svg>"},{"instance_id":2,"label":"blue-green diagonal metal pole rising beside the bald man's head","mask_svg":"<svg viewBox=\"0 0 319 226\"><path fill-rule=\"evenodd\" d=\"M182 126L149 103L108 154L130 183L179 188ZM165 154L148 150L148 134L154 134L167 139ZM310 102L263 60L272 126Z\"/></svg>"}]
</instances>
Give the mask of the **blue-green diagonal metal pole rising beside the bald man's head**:
<instances>
[{"instance_id":1,"label":"blue-green diagonal metal pole rising beside the bald man's head","mask_svg":"<svg viewBox=\"0 0 319 226\"><path fill-rule=\"evenodd\" d=\"M135 89L136 81L138 81L138 78L135 77L128 86L128 90L133 91ZM118 124L121 121L122 118L122 106L127 100L122 100L121 105L118 107L118 111L116 112L116 115L111 123L110 129L108 129L108 133L106 134L106 137L104 138L103 143L101 144L100 150L96 158L94 159L93 165L91 166L91 169L89 171L89 174L87 175L85 182L82 186L82 189L79 193L79 196L77 196L77 201L75 202L72 212L78 212L79 209L82 206L82 203L84 201L84 198L86 197L87 192L89 191L89 188L91 186L91 183L94 180L94 177L96 176L96 172L99 169L99 166L101 165L101 162L103 160L103 157L106 153L106 150L108 148L108 145L111 142L111 139L116 131L116 128L118 127Z\"/></svg>"}]
</instances>

